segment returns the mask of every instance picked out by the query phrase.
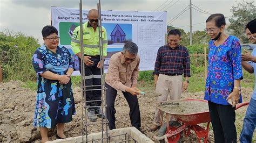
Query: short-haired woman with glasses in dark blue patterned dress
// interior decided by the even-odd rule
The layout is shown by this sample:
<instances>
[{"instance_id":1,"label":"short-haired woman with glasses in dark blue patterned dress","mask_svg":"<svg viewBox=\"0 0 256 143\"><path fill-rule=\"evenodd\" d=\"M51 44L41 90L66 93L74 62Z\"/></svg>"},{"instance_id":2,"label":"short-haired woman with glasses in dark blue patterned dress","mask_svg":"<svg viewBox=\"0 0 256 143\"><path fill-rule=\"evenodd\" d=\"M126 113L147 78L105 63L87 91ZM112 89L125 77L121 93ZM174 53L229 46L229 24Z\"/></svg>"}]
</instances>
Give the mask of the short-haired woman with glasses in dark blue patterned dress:
<instances>
[{"instance_id":1,"label":"short-haired woman with glasses in dark blue patterned dress","mask_svg":"<svg viewBox=\"0 0 256 143\"><path fill-rule=\"evenodd\" d=\"M44 45L36 49L32 64L37 73L36 110L33 126L40 128L42 142L49 141L48 129L57 125L57 138L66 138L64 124L75 114L70 75L73 60L70 52L58 46L58 31L53 26L42 30Z\"/></svg>"}]
</instances>

